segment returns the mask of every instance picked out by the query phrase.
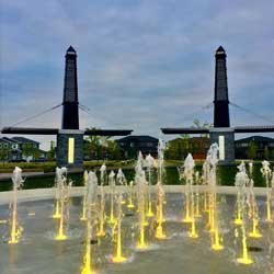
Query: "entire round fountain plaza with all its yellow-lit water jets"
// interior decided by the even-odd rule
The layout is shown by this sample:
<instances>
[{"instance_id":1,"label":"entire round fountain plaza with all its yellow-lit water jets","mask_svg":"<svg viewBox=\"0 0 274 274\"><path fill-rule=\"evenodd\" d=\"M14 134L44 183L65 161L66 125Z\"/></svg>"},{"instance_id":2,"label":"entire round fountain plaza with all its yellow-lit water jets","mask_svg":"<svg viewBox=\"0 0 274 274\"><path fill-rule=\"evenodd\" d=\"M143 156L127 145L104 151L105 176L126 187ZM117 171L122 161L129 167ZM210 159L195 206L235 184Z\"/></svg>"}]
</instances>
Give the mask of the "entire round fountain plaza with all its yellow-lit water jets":
<instances>
[{"instance_id":1,"label":"entire round fountain plaza with all its yellow-lit water jets","mask_svg":"<svg viewBox=\"0 0 274 274\"><path fill-rule=\"evenodd\" d=\"M274 273L274 173L240 163L235 186L218 186L218 145L203 171L189 155L181 185L164 185L164 142L158 159L139 153L135 179L122 170L84 171L75 186L66 168L55 187L0 193L1 274Z\"/></svg>"}]
</instances>

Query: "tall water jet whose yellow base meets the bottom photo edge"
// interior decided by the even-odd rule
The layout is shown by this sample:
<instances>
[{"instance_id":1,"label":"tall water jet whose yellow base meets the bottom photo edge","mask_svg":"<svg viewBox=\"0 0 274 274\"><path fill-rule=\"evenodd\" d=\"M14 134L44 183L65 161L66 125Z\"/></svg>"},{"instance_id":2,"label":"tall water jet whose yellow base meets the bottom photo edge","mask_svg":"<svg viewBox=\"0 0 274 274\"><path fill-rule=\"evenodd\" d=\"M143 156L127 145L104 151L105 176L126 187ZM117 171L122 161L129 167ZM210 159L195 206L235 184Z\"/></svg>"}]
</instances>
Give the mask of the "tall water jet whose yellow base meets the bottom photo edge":
<instances>
[{"instance_id":1,"label":"tall water jet whose yellow base meets the bottom photo edge","mask_svg":"<svg viewBox=\"0 0 274 274\"><path fill-rule=\"evenodd\" d=\"M96 185L98 178L95 172L90 171L88 175L87 185L87 226L85 226L85 252L83 256L83 266L81 267L81 274L94 274L95 271L92 266L92 254L91 254L91 241L92 241L92 227L94 222L94 216L92 216L91 205L95 204L96 197Z\"/></svg>"}]
</instances>

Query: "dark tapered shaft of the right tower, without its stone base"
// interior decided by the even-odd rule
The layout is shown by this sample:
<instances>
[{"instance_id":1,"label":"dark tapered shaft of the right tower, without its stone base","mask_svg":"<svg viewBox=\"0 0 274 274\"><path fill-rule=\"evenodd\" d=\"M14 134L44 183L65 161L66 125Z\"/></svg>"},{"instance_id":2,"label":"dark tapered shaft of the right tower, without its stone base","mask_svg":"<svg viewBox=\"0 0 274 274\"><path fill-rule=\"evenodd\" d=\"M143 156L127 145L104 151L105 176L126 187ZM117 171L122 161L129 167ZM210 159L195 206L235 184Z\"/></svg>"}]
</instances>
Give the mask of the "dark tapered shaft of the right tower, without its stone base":
<instances>
[{"instance_id":1,"label":"dark tapered shaft of the right tower, without its stone base","mask_svg":"<svg viewBox=\"0 0 274 274\"><path fill-rule=\"evenodd\" d=\"M215 54L214 127L230 126L226 58L226 52L220 46Z\"/></svg>"}]
</instances>

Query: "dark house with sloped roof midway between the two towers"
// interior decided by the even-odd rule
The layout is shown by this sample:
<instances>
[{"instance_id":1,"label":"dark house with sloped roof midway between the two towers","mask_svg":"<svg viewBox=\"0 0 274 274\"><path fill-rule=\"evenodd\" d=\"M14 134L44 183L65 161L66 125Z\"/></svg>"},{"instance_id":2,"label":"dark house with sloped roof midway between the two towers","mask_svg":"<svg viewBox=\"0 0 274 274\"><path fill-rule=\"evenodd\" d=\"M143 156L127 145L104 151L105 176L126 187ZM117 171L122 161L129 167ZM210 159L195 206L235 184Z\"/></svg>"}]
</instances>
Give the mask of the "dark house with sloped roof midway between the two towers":
<instances>
[{"instance_id":1,"label":"dark house with sloped roof midway between the two towers","mask_svg":"<svg viewBox=\"0 0 274 274\"><path fill-rule=\"evenodd\" d=\"M139 151L144 156L151 155L157 158L159 139L148 135L132 135L117 139L126 159L137 158Z\"/></svg>"}]
</instances>

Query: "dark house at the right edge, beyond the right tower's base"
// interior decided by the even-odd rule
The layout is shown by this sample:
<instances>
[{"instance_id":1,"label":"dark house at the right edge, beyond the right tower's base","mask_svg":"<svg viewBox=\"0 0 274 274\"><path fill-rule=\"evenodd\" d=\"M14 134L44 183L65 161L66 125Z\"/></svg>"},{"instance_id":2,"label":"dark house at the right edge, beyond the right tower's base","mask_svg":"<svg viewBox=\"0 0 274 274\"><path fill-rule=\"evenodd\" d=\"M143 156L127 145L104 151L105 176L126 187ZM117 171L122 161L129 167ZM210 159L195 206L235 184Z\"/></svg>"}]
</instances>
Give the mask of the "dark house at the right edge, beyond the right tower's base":
<instances>
[{"instance_id":1,"label":"dark house at the right edge, beyond the right tower's base","mask_svg":"<svg viewBox=\"0 0 274 274\"><path fill-rule=\"evenodd\" d=\"M249 159L251 146L254 150L254 159L274 158L274 139L264 136L251 136L235 141L237 159Z\"/></svg>"}]
</instances>

